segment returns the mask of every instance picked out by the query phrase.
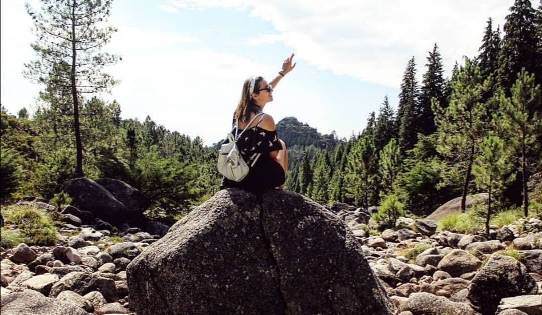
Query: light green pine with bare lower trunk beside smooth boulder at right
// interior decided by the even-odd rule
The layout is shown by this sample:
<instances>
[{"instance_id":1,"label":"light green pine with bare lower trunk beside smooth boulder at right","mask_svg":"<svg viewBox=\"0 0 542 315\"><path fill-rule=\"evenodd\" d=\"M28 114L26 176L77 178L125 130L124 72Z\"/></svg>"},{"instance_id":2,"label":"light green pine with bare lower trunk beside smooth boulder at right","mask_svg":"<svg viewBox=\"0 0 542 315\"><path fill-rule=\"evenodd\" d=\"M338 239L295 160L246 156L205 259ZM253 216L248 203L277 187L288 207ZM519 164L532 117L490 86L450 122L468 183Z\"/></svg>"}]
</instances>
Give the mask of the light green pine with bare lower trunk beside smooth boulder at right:
<instances>
[{"instance_id":1,"label":"light green pine with bare lower trunk beside smooth boulder at right","mask_svg":"<svg viewBox=\"0 0 542 315\"><path fill-rule=\"evenodd\" d=\"M466 209L469 183L472 181L472 165L479 152L479 142L487 132L486 106L482 103L483 92L488 89L480 74L480 68L466 60L451 82L450 104L440 109L435 104L437 125L437 151L446 156L450 167L463 174L461 209Z\"/></svg>"}]
</instances>

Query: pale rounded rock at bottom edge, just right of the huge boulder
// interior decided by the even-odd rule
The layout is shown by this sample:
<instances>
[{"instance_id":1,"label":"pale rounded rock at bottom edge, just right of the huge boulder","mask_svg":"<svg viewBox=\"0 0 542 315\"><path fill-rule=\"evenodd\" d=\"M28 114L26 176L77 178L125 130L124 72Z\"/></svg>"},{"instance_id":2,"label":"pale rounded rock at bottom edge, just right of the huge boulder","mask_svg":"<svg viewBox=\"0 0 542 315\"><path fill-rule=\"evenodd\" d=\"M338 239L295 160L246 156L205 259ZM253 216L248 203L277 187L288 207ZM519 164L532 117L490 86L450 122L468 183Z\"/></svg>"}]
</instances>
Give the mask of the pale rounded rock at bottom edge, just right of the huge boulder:
<instances>
[{"instance_id":1,"label":"pale rounded rock at bottom edge, just right of the huge boulder","mask_svg":"<svg viewBox=\"0 0 542 315\"><path fill-rule=\"evenodd\" d=\"M399 307L400 312L423 315L477 315L468 305L454 303L443 297L429 293L410 294L408 301Z\"/></svg>"}]
</instances>

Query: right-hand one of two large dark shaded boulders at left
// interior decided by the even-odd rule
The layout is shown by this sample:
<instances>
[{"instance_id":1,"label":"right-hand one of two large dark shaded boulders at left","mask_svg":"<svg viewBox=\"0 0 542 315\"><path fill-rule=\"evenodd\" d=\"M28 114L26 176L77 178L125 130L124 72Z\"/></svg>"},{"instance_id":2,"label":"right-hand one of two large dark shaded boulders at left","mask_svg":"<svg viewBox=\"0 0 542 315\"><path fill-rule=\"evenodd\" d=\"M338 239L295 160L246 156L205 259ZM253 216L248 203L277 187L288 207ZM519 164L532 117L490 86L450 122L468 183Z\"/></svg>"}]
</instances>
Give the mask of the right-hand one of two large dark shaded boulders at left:
<instances>
[{"instance_id":1,"label":"right-hand one of two large dark shaded boulders at left","mask_svg":"<svg viewBox=\"0 0 542 315\"><path fill-rule=\"evenodd\" d=\"M111 192L115 199L122 202L132 215L143 213L151 205L149 197L123 181L99 178L96 179L96 183Z\"/></svg>"}]
</instances>

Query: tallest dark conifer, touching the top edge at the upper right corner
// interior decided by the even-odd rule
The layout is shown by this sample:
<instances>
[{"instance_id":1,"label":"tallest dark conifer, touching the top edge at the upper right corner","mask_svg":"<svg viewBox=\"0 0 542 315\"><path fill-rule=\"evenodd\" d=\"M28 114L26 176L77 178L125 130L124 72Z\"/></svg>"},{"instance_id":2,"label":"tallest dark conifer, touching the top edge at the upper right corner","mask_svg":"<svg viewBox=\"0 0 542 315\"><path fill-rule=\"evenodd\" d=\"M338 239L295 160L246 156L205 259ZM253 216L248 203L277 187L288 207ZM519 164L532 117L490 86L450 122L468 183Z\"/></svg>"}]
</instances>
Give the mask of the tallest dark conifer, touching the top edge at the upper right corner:
<instances>
[{"instance_id":1,"label":"tallest dark conifer, touching the top edge at the upper right corner","mask_svg":"<svg viewBox=\"0 0 542 315\"><path fill-rule=\"evenodd\" d=\"M499 84L507 96L521 68L530 73L542 73L538 48L540 40L535 29L535 10L529 0L515 0L506 16L505 35L499 51ZM536 78L542 83L542 75Z\"/></svg>"}]
</instances>

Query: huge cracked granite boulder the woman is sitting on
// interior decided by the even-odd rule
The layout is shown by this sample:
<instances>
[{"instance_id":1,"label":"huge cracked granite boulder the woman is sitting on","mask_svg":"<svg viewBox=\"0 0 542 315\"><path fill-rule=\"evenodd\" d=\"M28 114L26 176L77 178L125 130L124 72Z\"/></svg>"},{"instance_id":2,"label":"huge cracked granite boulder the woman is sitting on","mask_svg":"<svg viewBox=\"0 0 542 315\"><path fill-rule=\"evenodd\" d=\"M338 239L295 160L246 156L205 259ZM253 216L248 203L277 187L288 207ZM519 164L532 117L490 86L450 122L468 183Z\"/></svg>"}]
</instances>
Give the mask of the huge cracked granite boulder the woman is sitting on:
<instances>
[{"instance_id":1,"label":"huge cracked granite boulder the woman is sitting on","mask_svg":"<svg viewBox=\"0 0 542 315\"><path fill-rule=\"evenodd\" d=\"M272 191L218 192L127 268L140 314L391 314L344 222L315 202Z\"/></svg>"}]
</instances>

